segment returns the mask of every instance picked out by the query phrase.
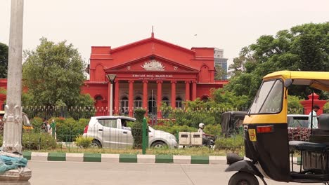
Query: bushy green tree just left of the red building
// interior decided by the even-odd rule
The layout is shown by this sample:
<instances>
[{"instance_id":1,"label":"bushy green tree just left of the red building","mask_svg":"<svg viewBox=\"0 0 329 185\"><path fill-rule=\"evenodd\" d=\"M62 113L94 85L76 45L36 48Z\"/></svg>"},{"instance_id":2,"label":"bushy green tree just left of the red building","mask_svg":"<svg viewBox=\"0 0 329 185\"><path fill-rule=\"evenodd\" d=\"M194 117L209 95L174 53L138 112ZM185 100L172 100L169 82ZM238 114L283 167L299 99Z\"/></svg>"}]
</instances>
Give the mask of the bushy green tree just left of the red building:
<instances>
[{"instance_id":1,"label":"bushy green tree just left of the red building","mask_svg":"<svg viewBox=\"0 0 329 185\"><path fill-rule=\"evenodd\" d=\"M54 43L46 38L35 50L25 51L22 76L28 88L28 105L92 107L90 96L81 95L85 63L72 43Z\"/></svg>"}]
</instances>

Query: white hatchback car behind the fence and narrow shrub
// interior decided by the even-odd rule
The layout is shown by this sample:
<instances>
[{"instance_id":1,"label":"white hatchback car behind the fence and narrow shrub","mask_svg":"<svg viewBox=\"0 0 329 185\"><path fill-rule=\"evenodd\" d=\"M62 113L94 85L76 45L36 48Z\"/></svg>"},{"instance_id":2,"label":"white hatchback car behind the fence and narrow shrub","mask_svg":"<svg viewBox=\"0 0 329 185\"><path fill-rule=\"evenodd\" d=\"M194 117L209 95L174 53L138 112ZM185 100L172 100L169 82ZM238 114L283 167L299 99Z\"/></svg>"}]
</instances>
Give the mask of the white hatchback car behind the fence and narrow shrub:
<instances>
[{"instance_id":1,"label":"white hatchback car behind the fence and narrow shrub","mask_svg":"<svg viewBox=\"0 0 329 185\"><path fill-rule=\"evenodd\" d=\"M131 148L134 138L131 135L131 128L127 127L129 121L134 122L136 119L127 116L93 116L84 128L84 137L93 137L93 146L111 149ZM148 127L148 130L149 147L178 146L174 135L151 127Z\"/></svg>"}]
</instances>

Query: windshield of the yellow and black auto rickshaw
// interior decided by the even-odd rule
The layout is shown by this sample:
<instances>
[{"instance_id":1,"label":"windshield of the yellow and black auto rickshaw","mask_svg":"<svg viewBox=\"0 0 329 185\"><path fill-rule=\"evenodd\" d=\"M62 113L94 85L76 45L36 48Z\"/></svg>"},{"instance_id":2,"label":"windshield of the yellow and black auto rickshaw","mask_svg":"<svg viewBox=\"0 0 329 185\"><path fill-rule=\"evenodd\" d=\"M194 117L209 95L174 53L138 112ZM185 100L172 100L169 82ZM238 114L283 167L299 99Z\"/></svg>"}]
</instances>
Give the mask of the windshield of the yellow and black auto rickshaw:
<instances>
[{"instance_id":1,"label":"windshield of the yellow and black auto rickshaw","mask_svg":"<svg viewBox=\"0 0 329 185\"><path fill-rule=\"evenodd\" d=\"M276 114L282 110L283 82L264 81L259 88L248 114Z\"/></svg>"}]
</instances>

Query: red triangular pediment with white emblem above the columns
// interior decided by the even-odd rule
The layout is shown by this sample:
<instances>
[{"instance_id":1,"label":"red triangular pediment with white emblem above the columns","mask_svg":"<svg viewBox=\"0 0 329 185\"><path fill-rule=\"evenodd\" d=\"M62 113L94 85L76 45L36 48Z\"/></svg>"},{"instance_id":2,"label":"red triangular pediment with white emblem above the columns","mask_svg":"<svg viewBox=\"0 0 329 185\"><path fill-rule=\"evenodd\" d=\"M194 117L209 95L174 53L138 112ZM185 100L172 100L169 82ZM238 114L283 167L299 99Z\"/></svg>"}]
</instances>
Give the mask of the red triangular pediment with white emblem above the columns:
<instances>
[{"instance_id":1,"label":"red triangular pediment with white emblem above the columns","mask_svg":"<svg viewBox=\"0 0 329 185\"><path fill-rule=\"evenodd\" d=\"M170 71L170 72L198 72L184 64L169 60L157 55L149 55L139 59L124 62L124 64L117 65L105 69L105 71Z\"/></svg>"}]
</instances>

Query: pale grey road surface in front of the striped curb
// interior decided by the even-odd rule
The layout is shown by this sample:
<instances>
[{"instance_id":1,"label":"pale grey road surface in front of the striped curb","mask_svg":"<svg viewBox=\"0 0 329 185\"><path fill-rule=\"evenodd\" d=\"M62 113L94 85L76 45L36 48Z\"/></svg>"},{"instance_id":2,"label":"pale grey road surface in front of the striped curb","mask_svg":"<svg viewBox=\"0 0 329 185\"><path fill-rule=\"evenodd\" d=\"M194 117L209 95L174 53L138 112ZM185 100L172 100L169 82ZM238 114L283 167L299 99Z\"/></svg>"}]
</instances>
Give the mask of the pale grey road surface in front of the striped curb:
<instances>
[{"instance_id":1,"label":"pale grey road surface in front of the striped curb","mask_svg":"<svg viewBox=\"0 0 329 185\"><path fill-rule=\"evenodd\" d=\"M28 165L32 170L31 185L224 185L233 174L224 172L226 165L49 161L29 161ZM286 184L269 180L267 183Z\"/></svg>"}]
</instances>

